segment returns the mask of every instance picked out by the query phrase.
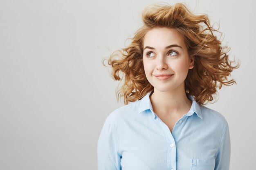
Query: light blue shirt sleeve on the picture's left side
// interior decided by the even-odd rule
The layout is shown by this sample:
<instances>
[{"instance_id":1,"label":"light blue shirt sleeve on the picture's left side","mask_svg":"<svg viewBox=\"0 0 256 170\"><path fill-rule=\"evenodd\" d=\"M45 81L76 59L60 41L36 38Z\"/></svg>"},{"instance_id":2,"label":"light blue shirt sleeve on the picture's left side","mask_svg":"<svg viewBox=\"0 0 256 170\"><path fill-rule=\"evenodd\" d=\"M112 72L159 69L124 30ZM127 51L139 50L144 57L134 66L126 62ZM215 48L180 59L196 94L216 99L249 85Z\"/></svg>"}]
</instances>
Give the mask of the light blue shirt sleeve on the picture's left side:
<instances>
[{"instance_id":1,"label":"light blue shirt sleeve on the picture's left side","mask_svg":"<svg viewBox=\"0 0 256 170\"><path fill-rule=\"evenodd\" d=\"M111 117L106 118L97 144L98 170L121 170L121 155Z\"/></svg>"}]
</instances>

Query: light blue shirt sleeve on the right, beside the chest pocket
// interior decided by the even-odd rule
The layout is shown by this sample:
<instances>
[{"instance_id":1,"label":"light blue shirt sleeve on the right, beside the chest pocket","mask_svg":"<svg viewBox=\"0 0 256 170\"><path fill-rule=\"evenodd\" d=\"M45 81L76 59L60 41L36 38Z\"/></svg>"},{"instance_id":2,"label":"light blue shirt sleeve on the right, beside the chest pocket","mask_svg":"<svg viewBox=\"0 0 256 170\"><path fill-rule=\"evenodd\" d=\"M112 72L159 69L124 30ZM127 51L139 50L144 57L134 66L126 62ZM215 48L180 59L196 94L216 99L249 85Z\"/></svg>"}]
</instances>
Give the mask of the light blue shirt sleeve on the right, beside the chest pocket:
<instances>
[{"instance_id":1,"label":"light blue shirt sleeve on the right, beside the chest pocket","mask_svg":"<svg viewBox=\"0 0 256 170\"><path fill-rule=\"evenodd\" d=\"M218 149L216 158L215 158L215 168L214 170L229 170L230 163L230 136L229 136L229 126L226 122L224 132L222 135L222 140L220 141L220 147Z\"/></svg>"}]
</instances>

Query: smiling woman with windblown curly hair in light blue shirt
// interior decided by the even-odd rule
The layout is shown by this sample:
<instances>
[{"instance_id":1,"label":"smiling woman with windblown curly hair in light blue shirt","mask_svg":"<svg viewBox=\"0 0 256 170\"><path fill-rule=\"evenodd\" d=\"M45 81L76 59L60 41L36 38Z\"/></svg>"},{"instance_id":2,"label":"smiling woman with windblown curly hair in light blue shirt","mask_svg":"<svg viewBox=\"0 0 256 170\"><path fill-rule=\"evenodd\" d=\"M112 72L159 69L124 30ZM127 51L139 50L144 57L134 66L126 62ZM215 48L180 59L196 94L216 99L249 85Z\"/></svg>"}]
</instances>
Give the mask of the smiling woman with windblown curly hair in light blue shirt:
<instances>
[{"instance_id":1,"label":"smiling woman with windblown curly hair in light blue shirt","mask_svg":"<svg viewBox=\"0 0 256 170\"><path fill-rule=\"evenodd\" d=\"M142 18L131 44L108 60L115 80L124 74L117 97L126 105L103 125L99 170L228 170L227 121L203 105L236 83L227 77L239 64L231 66L207 15L182 3L149 6Z\"/></svg>"}]
</instances>

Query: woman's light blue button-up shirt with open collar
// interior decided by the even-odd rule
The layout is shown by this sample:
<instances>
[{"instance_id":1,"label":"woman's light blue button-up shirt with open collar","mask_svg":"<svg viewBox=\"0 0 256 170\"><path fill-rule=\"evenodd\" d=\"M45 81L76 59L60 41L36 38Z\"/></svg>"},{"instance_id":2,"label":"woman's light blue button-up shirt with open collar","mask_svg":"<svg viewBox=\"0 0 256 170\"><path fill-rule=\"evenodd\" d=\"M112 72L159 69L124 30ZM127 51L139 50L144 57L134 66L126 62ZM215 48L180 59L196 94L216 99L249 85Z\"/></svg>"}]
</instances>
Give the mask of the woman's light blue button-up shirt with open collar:
<instances>
[{"instance_id":1,"label":"woman's light blue button-up shirt with open collar","mask_svg":"<svg viewBox=\"0 0 256 170\"><path fill-rule=\"evenodd\" d=\"M171 132L149 95L108 115L97 145L98 170L229 170L225 117L190 96L189 112Z\"/></svg>"}]
</instances>

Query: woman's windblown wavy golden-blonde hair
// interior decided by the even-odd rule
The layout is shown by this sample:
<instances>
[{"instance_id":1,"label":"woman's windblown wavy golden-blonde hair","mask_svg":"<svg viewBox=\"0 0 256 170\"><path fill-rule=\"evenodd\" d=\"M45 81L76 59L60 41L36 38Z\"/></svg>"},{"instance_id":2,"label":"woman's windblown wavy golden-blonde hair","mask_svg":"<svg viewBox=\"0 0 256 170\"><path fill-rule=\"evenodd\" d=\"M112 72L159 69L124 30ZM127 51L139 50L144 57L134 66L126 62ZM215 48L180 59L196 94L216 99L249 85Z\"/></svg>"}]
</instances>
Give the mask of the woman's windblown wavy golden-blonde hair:
<instances>
[{"instance_id":1,"label":"woman's windblown wavy golden-blonde hair","mask_svg":"<svg viewBox=\"0 0 256 170\"><path fill-rule=\"evenodd\" d=\"M222 46L221 41L213 34L220 33L219 28L213 29L207 14L195 15L184 3L173 6L152 4L142 11L142 20L143 26L135 32L133 38L128 38L132 42L104 59L112 66L112 78L124 80L117 91L117 100L124 97L124 104L129 104L154 90L146 79L143 66L144 37L154 28L176 29L183 36L189 55L195 57L194 67L189 69L185 79L185 92L187 96L192 95L198 104L212 101L216 89L220 89L222 85L236 83L234 79L228 80L228 76L240 64L232 66L235 61L229 60L227 54L230 48ZM122 77L119 73L122 73Z\"/></svg>"}]
</instances>

